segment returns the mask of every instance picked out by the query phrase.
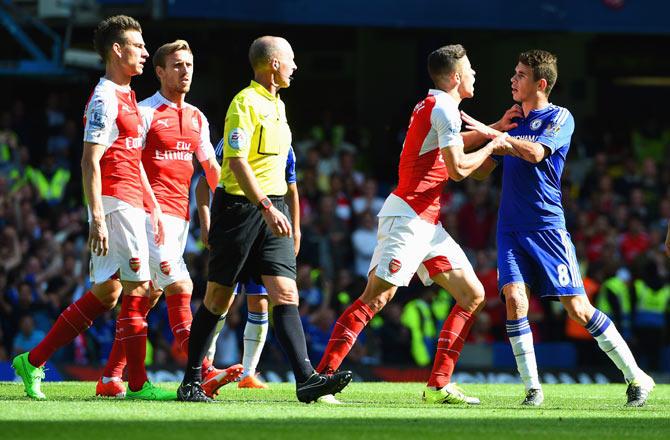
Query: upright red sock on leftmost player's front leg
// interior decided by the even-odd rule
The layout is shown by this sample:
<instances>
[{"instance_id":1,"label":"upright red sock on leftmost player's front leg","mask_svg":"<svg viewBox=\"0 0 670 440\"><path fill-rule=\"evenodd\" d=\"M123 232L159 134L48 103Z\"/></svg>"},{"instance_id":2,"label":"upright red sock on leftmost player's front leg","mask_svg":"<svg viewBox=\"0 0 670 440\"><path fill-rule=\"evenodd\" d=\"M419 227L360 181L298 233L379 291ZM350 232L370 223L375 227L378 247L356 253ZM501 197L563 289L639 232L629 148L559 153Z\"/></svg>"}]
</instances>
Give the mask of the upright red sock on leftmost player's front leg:
<instances>
[{"instance_id":1,"label":"upright red sock on leftmost player's front leg","mask_svg":"<svg viewBox=\"0 0 670 440\"><path fill-rule=\"evenodd\" d=\"M149 298L123 295L117 321L117 338L123 343L128 361L128 387L142 388L147 379L144 361L147 354L147 314Z\"/></svg>"}]
</instances>

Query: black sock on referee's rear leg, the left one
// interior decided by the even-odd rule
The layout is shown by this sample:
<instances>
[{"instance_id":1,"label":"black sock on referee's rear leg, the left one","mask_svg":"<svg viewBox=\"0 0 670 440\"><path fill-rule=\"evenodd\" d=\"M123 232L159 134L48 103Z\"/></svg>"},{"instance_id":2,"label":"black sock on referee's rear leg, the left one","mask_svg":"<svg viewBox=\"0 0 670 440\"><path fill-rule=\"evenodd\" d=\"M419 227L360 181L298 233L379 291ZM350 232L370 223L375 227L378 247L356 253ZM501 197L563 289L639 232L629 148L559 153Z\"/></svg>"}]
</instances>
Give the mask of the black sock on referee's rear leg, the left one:
<instances>
[{"instance_id":1,"label":"black sock on referee's rear leg, the left one","mask_svg":"<svg viewBox=\"0 0 670 440\"><path fill-rule=\"evenodd\" d=\"M207 354L211 335L219 322L219 316L200 305L193 316L191 335L188 341L188 364L184 373L184 383L202 382L202 360Z\"/></svg>"}]
</instances>

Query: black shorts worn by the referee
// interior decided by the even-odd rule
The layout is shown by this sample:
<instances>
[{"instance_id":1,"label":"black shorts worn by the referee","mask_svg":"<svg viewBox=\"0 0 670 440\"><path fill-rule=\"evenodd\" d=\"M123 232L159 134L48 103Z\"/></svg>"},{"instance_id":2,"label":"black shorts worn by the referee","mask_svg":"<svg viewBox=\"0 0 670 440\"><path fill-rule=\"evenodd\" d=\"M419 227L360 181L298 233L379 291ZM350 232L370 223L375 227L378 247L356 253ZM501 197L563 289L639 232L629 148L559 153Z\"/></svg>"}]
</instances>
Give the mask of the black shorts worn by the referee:
<instances>
[{"instance_id":1,"label":"black shorts worn by the referee","mask_svg":"<svg viewBox=\"0 0 670 440\"><path fill-rule=\"evenodd\" d=\"M283 196L270 196L273 205L291 218ZM244 196L217 188L209 229L208 280L234 286L239 280L261 282L261 275L295 280L292 237L276 237L257 206Z\"/></svg>"}]
</instances>

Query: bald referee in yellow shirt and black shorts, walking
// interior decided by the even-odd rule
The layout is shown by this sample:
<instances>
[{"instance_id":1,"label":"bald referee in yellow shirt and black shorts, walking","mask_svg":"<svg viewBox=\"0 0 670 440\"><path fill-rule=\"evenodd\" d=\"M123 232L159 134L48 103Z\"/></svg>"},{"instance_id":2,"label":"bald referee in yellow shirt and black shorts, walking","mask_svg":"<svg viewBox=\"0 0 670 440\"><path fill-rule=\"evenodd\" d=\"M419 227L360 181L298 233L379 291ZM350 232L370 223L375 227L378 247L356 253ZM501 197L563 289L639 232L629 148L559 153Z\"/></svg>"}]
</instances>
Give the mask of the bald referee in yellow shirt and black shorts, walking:
<instances>
[{"instance_id":1,"label":"bald referee in yellow shirt and black shorts, walking","mask_svg":"<svg viewBox=\"0 0 670 440\"><path fill-rule=\"evenodd\" d=\"M188 364L179 400L210 401L202 390L202 359L219 319L225 318L238 280L262 282L274 304L277 340L291 363L298 400L309 403L340 392L351 372L318 374L307 355L298 313L296 262L284 169L291 129L279 89L297 69L283 38L260 37L249 48L254 80L228 108L221 182L212 201L209 279L205 300L191 325Z\"/></svg>"}]
</instances>

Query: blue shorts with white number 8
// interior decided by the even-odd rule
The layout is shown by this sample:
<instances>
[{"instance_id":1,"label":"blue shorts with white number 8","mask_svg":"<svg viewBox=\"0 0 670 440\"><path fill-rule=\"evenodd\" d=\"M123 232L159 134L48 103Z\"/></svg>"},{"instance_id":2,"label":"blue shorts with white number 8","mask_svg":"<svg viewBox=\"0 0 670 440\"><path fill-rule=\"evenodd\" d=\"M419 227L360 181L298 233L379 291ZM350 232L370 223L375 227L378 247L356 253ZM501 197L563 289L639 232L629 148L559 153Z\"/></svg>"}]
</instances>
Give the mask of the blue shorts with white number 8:
<instances>
[{"instance_id":1,"label":"blue shorts with white number 8","mask_svg":"<svg viewBox=\"0 0 670 440\"><path fill-rule=\"evenodd\" d=\"M498 291L525 283L549 299L584 295L575 246L565 229L498 232Z\"/></svg>"}]
</instances>

